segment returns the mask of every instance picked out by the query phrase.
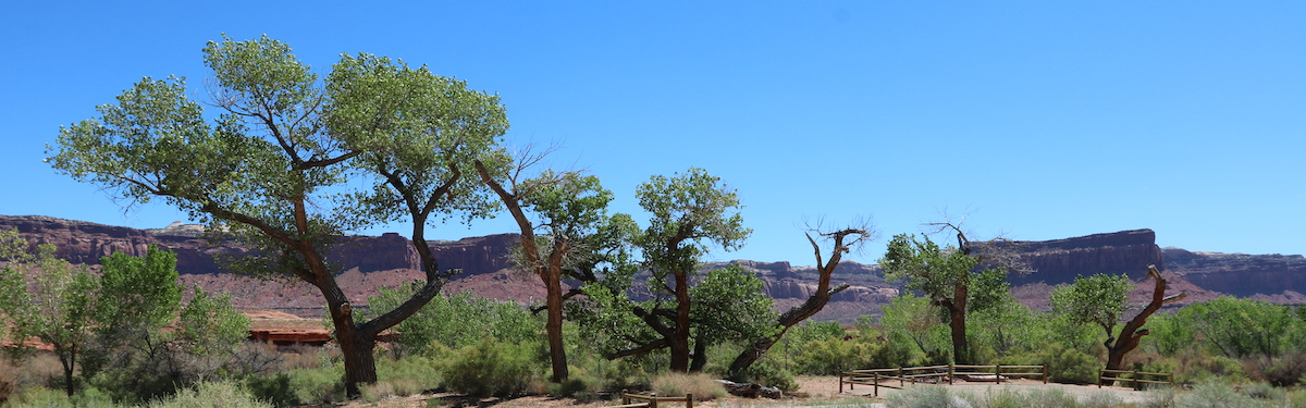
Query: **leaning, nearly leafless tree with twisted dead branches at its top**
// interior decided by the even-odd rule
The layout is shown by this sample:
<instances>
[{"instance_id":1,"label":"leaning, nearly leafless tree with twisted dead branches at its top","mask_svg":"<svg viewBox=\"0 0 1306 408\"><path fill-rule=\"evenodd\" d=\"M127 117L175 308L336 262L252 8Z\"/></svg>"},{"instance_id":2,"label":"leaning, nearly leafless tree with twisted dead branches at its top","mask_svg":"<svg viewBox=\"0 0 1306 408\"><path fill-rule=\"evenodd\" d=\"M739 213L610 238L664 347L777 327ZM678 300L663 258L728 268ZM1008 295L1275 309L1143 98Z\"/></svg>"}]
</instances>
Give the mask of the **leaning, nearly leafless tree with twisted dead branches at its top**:
<instances>
[{"instance_id":1,"label":"leaning, nearly leafless tree with twisted dead branches at its top","mask_svg":"<svg viewBox=\"0 0 1306 408\"><path fill-rule=\"evenodd\" d=\"M821 247L818 243L818 238L812 238L812 234L816 234L821 242L831 242L832 247L828 260L821 258ZM780 341L789 328L820 313L821 309L825 309L825 303L829 303L831 297L844 289L848 289L848 284L831 288L831 277L835 275L835 268L838 267L844 254L861 247L867 241L875 239L875 230L871 229L870 222L855 222L855 225L833 231L823 231L818 226L810 229L806 235L807 242L811 243L812 251L816 255L816 290L814 290L802 305L789 309L776 319L776 326L780 327L780 331L774 336L757 339L751 345L744 347L744 349L739 352L739 356L730 362L727 373L738 374L747 370L748 366L756 362L757 358L761 358L761 356L765 354L767 350L776 344L776 341Z\"/></svg>"}]
</instances>

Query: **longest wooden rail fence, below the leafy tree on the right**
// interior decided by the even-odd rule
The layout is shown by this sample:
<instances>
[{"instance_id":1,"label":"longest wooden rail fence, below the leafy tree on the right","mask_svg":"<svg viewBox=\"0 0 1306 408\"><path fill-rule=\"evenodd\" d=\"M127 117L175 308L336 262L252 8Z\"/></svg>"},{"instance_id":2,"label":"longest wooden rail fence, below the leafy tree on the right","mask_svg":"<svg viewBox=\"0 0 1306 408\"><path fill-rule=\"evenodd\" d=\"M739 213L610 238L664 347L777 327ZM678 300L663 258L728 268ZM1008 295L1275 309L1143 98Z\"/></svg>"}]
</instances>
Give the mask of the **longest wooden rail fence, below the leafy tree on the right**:
<instances>
[{"instance_id":1,"label":"longest wooden rail fence, below the leafy tree on the right","mask_svg":"<svg viewBox=\"0 0 1306 408\"><path fill-rule=\"evenodd\" d=\"M1037 371L1030 371L1037 370ZM947 381L949 384L956 378L963 378L965 381L991 381L1002 383L1004 378L1012 377L1038 377L1047 383L1047 366L1042 365L936 365L936 366L923 366L923 367L897 367L897 369L872 369L872 370L852 370L838 373L838 392L844 392L844 384L848 384L848 390L852 391L855 384L871 386L875 388L875 396L880 396L880 387L888 387L900 390L908 382L930 382L939 383ZM892 381L897 381L897 386L888 384Z\"/></svg>"}]
</instances>

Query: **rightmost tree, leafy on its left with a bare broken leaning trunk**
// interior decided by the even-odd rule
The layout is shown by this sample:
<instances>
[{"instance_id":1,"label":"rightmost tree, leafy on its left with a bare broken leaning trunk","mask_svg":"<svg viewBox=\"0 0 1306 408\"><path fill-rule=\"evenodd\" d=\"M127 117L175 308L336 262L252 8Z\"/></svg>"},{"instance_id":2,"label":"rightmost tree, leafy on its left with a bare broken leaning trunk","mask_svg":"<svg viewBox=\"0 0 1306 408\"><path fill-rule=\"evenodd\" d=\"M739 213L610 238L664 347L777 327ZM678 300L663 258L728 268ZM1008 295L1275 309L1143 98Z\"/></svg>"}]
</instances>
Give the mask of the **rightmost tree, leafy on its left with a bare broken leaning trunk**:
<instances>
[{"instance_id":1,"label":"rightmost tree, leafy on its left with a bare broken leaning trunk","mask_svg":"<svg viewBox=\"0 0 1306 408\"><path fill-rule=\"evenodd\" d=\"M1149 333L1143 328L1148 316L1161 309L1162 305L1181 301L1185 293L1165 296L1166 281L1155 265L1148 265L1148 277L1156 281L1152 289L1152 299L1139 311L1134 319L1124 323L1117 336L1111 328L1121 320L1124 313L1126 299L1132 284L1126 275L1093 275L1089 277L1075 277L1075 284L1062 286L1050 294L1053 310L1070 316L1077 323L1093 323L1106 332L1107 370L1119 370L1124 361L1124 354L1139 347L1143 336Z\"/></svg>"}]
</instances>

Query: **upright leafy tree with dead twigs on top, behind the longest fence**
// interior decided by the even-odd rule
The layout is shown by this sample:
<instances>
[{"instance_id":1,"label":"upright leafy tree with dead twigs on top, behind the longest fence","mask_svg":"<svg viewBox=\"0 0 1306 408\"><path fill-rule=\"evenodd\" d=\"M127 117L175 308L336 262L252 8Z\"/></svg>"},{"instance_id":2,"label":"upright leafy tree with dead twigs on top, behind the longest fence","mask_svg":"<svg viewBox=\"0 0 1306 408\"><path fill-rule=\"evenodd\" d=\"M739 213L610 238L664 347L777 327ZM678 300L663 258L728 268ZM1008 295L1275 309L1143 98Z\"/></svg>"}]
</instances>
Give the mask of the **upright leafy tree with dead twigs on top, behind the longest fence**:
<instances>
[{"instance_id":1,"label":"upright leafy tree with dead twigs on top, behind the longest fence","mask_svg":"<svg viewBox=\"0 0 1306 408\"><path fill-rule=\"evenodd\" d=\"M1007 292L1003 281L1006 267L976 271L982 256L972 254L973 246L964 234L959 233L957 241L960 248L939 247L930 237L918 241L916 235L899 234L889 241L879 264L885 277L902 281L910 290L925 293L935 306L943 309L952 333L952 358L970 362L966 314L990 307L1000 299L1000 293Z\"/></svg>"}]
</instances>

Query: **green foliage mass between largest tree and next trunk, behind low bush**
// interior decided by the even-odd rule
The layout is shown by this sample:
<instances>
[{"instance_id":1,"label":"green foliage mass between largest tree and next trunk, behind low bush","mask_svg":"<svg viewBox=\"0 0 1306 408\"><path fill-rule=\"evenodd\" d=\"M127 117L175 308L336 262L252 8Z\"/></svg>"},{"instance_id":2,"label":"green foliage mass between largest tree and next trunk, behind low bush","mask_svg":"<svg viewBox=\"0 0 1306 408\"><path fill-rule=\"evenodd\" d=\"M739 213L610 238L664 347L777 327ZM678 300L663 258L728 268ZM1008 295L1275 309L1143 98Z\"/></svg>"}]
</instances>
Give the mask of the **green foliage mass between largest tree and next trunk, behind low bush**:
<instances>
[{"instance_id":1,"label":"green foliage mass between largest tree and next trunk, behind low bush","mask_svg":"<svg viewBox=\"0 0 1306 408\"><path fill-rule=\"evenodd\" d=\"M368 313L388 311L413 296L424 285L413 281L400 288L377 288L377 294L368 297ZM543 322L516 303L495 302L469 292L436 296L415 314L394 326L400 344L398 356L426 353L435 344L462 348L479 343L482 339L498 339L508 343L528 343L538 340Z\"/></svg>"}]
</instances>

